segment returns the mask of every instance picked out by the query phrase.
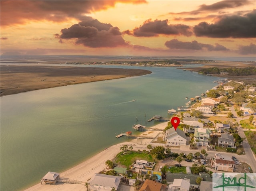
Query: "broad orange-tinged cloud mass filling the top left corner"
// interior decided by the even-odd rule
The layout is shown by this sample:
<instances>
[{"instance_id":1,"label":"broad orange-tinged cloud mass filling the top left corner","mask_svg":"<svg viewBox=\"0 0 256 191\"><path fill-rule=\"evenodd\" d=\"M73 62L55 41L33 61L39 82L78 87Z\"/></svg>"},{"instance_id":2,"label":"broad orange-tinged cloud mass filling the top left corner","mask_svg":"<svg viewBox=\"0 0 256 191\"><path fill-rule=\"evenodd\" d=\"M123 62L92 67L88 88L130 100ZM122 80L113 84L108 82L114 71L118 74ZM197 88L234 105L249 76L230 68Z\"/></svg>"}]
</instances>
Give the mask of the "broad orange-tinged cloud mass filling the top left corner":
<instances>
[{"instance_id":1,"label":"broad orange-tinged cloud mass filling the top left corner","mask_svg":"<svg viewBox=\"0 0 256 191\"><path fill-rule=\"evenodd\" d=\"M27 20L62 22L68 18L83 20L84 14L114 7L116 2L140 4L145 0L1 0L1 26L24 24Z\"/></svg>"}]
</instances>

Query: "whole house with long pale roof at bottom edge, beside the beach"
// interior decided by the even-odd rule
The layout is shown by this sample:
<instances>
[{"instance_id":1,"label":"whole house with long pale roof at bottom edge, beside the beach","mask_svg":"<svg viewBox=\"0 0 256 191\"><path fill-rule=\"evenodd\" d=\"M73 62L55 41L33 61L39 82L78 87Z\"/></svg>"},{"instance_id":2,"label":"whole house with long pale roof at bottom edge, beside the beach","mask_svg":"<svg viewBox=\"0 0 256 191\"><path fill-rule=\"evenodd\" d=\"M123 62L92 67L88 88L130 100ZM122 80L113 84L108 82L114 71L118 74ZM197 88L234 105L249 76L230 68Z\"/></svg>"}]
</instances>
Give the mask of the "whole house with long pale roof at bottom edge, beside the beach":
<instances>
[{"instance_id":1,"label":"whole house with long pale roof at bottom edge, beside the beach","mask_svg":"<svg viewBox=\"0 0 256 191\"><path fill-rule=\"evenodd\" d=\"M120 184L120 176L112 176L106 174L96 173L90 183L90 190L92 191L111 191L113 188L118 190Z\"/></svg>"}]
</instances>

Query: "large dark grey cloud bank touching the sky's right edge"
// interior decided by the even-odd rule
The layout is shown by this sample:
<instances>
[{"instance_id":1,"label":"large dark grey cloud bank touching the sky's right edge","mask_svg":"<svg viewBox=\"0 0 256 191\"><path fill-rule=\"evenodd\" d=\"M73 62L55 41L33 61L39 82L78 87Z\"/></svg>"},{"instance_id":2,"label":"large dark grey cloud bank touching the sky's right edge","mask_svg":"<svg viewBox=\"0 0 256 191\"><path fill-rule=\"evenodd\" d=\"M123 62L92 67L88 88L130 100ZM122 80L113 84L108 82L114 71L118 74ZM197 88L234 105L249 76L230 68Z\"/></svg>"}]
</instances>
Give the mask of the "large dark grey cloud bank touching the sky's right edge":
<instances>
[{"instance_id":1,"label":"large dark grey cloud bank touching the sky's right edge","mask_svg":"<svg viewBox=\"0 0 256 191\"><path fill-rule=\"evenodd\" d=\"M214 24L201 22L194 26L196 36L213 38L251 38L256 37L256 10L244 16L223 16Z\"/></svg>"}]
</instances>

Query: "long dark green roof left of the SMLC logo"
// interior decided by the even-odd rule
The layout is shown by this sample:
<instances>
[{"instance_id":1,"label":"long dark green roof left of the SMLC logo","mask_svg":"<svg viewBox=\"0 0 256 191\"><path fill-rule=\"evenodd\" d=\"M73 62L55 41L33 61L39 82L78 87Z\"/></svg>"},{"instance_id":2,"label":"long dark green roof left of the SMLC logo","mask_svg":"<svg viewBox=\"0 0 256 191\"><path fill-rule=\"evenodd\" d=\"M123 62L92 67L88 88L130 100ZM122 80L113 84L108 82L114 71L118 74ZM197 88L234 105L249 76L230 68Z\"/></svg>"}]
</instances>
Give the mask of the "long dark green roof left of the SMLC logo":
<instances>
[{"instance_id":1,"label":"long dark green roof left of the SMLC logo","mask_svg":"<svg viewBox=\"0 0 256 191\"><path fill-rule=\"evenodd\" d=\"M173 183L174 179L184 179L184 178L187 178L187 179L190 179L190 185L191 184L194 184L194 185L197 185L196 183L196 178L198 177L202 177L203 180L205 181L212 181L211 177L209 174L207 173L199 173L198 174L184 174L184 173L171 173L171 172L167 172L166 173L166 181L168 182L171 182Z\"/></svg>"}]
</instances>

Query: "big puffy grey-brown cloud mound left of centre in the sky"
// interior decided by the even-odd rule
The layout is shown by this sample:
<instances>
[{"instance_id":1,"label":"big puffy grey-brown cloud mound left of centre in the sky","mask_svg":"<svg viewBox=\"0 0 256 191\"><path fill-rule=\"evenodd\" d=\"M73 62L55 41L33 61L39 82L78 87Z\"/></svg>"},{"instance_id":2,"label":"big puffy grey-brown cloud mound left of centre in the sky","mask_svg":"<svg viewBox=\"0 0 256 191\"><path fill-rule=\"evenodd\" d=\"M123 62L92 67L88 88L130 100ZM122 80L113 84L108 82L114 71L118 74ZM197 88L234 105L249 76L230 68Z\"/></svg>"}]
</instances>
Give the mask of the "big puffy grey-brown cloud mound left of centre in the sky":
<instances>
[{"instance_id":1,"label":"big puffy grey-brown cloud mound left of centre in the sky","mask_svg":"<svg viewBox=\"0 0 256 191\"><path fill-rule=\"evenodd\" d=\"M55 37L59 37L60 39L76 39L76 44L93 48L128 45L124 41L118 27L101 23L91 17L84 17L84 19L82 22L74 24L70 28L62 29L62 34L56 34Z\"/></svg>"}]
</instances>

